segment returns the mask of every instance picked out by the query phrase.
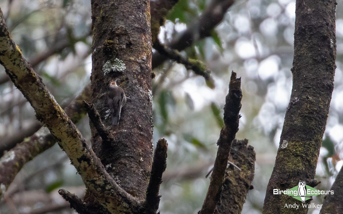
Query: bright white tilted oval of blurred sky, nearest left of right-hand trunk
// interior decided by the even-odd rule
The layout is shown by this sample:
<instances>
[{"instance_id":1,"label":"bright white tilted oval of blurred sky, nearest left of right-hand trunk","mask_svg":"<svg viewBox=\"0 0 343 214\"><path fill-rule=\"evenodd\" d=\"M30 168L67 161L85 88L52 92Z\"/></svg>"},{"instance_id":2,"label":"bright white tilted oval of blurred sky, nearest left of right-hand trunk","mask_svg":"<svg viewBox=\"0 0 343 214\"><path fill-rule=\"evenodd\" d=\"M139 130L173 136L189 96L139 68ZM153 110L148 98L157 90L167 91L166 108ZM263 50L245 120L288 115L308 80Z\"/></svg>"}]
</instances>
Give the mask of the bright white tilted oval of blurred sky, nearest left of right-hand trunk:
<instances>
[{"instance_id":1,"label":"bright white tilted oval of blurred sky, nearest left of right-hand trunk","mask_svg":"<svg viewBox=\"0 0 343 214\"><path fill-rule=\"evenodd\" d=\"M277 72L279 72L280 61L280 57L276 55L272 55L267 59L264 59L258 68L260 78L266 80L277 74Z\"/></svg>"}]
</instances>

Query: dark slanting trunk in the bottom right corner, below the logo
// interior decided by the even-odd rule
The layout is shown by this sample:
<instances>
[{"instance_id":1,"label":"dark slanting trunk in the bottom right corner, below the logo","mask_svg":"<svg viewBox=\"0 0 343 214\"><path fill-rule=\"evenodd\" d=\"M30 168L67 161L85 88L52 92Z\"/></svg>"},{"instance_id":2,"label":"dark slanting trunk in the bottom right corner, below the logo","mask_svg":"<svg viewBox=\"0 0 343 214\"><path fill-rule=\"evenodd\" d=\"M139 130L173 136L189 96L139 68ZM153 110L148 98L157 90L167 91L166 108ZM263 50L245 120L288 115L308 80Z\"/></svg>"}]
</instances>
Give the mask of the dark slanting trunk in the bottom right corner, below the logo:
<instances>
[{"instance_id":1,"label":"dark slanting trunk in the bottom right corner, below the logo","mask_svg":"<svg viewBox=\"0 0 343 214\"><path fill-rule=\"evenodd\" d=\"M338 173L331 189L334 194L328 194L319 214L340 214L343 210L343 168Z\"/></svg>"}]
</instances>

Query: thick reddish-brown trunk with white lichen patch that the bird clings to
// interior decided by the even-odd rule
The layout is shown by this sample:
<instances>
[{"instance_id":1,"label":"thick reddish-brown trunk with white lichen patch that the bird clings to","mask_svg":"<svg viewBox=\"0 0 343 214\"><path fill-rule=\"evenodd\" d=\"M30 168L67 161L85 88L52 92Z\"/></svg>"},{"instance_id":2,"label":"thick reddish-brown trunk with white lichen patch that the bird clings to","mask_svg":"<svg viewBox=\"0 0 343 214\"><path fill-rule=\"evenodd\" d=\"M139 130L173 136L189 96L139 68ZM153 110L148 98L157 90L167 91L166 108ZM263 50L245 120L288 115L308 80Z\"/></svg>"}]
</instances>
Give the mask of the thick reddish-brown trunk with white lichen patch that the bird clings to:
<instances>
[{"instance_id":1,"label":"thick reddish-brown trunk with white lichen patch that the bird clings to","mask_svg":"<svg viewBox=\"0 0 343 214\"><path fill-rule=\"evenodd\" d=\"M150 2L92 0L91 4L91 102L116 139L104 145L91 123L92 148L117 184L143 200L153 154ZM117 78L130 99L121 110L119 125L113 126L106 86Z\"/></svg>"}]
</instances>

